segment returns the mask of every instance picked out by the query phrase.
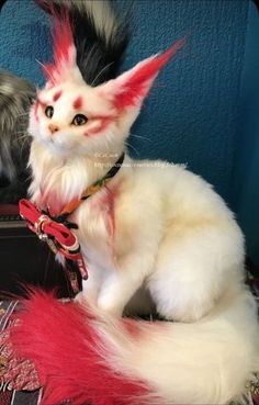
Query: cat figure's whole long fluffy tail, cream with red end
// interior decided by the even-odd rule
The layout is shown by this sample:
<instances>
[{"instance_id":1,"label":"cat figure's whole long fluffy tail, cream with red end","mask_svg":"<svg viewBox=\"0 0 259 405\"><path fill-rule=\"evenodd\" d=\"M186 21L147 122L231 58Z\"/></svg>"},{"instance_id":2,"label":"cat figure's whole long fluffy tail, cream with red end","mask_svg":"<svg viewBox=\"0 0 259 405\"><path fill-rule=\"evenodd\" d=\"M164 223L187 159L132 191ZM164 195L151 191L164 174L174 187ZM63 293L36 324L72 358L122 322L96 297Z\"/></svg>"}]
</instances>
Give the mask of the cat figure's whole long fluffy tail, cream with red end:
<instances>
[{"instance_id":1,"label":"cat figure's whole long fluffy tail, cream with red end","mask_svg":"<svg viewBox=\"0 0 259 405\"><path fill-rule=\"evenodd\" d=\"M194 324L114 319L34 291L11 341L31 359L44 405L225 404L258 368L258 324L247 291Z\"/></svg>"}]
</instances>

